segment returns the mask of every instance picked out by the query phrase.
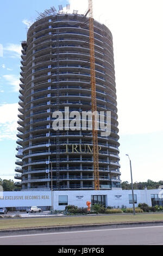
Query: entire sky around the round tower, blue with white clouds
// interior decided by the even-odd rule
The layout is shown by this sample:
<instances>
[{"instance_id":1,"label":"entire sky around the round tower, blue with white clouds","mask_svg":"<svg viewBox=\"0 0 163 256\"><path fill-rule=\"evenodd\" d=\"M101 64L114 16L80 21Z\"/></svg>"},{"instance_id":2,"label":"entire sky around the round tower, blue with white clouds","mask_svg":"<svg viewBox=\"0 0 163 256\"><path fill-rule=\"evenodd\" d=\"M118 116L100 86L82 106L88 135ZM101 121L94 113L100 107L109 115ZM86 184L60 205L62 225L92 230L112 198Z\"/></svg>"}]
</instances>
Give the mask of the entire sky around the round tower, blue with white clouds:
<instances>
[{"instance_id":1,"label":"entire sky around the round tower, blue with white clouds","mask_svg":"<svg viewBox=\"0 0 163 256\"><path fill-rule=\"evenodd\" d=\"M87 9L87 0L1 3L0 178L14 179L21 41L27 25L35 21L36 11L68 3L72 11ZM109 27L114 40L121 179L130 182L129 154L134 181L163 180L162 1L94 0L93 7L95 19Z\"/></svg>"}]
</instances>

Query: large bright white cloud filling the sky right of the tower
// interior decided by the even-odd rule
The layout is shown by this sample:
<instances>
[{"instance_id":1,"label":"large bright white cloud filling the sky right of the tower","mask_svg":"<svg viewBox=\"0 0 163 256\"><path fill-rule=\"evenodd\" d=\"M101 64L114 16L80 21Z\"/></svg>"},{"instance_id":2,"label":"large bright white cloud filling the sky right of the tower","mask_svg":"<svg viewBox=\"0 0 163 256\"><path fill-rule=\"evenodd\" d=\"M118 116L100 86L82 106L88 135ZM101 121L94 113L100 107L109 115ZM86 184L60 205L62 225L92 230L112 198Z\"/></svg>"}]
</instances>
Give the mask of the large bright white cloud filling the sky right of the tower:
<instances>
[{"instance_id":1,"label":"large bright white cloud filling the sky right of the tower","mask_svg":"<svg viewBox=\"0 0 163 256\"><path fill-rule=\"evenodd\" d=\"M85 13L87 0L69 0ZM93 0L94 18L113 35L118 122L121 134L163 131L161 0Z\"/></svg>"}]
</instances>

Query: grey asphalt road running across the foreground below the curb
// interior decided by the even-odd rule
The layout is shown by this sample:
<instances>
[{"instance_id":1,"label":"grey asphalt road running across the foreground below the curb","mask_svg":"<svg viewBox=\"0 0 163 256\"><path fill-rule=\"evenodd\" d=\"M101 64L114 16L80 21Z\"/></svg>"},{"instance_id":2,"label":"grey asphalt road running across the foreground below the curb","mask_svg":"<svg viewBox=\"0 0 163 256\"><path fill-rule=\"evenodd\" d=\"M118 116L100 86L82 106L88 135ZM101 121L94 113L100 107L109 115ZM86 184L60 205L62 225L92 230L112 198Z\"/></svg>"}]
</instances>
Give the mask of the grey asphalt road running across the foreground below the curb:
<instances>
[{"instance_id":1,"label":"grey asphalt road running across the foreground below the curb","mask_svg":"<svg viewBox=\"0 0 163 256\"><path fill-rule=\"evenodd\" d=\"M1 235L0 245L163 245L163 226Z\"/></svg>"}]
</instances>

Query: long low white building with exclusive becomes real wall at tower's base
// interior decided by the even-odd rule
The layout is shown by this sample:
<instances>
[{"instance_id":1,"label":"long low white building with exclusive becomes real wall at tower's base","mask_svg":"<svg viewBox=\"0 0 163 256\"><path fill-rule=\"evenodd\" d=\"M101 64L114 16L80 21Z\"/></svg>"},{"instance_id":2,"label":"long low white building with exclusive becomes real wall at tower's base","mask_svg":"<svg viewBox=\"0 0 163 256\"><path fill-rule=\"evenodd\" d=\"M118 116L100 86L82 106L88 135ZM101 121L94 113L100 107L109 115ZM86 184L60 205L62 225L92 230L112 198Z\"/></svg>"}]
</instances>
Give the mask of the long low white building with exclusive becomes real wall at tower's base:
<instances>
[{"instance_id":1,"label":"long low white building with exclusive becomes real wall at tower's base","mask_svg":"<svg viewBox=\"0 0 163 256\"><path fill-rule=\"evenodd\" d=\"M139 203L149 206L163 205L163 190L134 190L135 207ZM86 202L99 203L114 208L132 208L131 190L89 191L14 191L0 192L0 207L52 206L54 210L65 210L66 205L87 207Z\"/></svg>"}]
</instances>

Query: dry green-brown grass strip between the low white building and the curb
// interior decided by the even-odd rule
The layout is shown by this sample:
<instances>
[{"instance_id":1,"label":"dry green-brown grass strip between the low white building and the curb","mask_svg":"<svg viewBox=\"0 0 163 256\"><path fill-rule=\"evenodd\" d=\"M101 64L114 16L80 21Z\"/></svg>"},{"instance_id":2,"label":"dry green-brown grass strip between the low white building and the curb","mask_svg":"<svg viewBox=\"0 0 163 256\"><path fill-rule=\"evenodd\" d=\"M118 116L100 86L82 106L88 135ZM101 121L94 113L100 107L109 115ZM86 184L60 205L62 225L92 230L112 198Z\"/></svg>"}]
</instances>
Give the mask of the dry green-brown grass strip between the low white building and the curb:
<instances>
[{"instance_id":1,"label":"dry green-brown grass strip between the low white building and the curb","mask_svg":"<svg viewBox=\"0 0 163 256\"><path fill-rule=\"evenodd\" d=\"M163 221L163 214L149 215L108 215L108 216L78 216L78 217L47 217L47 218L24 218L24 219L1 219L1 229L15 228L35 228L50 227L61 225L81 225L81 224L102 224L102 223L118 223L118 222L139 222L139 221Z\"/></svg>"}]
</instances>

